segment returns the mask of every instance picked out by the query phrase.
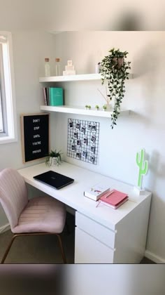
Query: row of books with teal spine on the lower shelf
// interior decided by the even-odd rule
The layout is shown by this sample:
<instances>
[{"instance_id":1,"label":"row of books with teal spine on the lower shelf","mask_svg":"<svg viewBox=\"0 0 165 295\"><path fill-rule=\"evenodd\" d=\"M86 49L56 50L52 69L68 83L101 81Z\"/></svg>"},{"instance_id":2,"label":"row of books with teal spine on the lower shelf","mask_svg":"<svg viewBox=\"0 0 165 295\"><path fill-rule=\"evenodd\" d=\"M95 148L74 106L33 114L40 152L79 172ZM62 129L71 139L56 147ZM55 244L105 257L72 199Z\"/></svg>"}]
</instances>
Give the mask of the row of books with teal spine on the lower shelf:
<instances>
[{"instance_id":1,"label":"row of books with teal spine on the lower shelf","mask_svg":"<svg viewBox=\"0 0 165 295\"><path fill-rule=\"evenodd\" d=\"M43 87L43 98L45 105L64 105L61 87Z\"/></svg>"}]
</instances>

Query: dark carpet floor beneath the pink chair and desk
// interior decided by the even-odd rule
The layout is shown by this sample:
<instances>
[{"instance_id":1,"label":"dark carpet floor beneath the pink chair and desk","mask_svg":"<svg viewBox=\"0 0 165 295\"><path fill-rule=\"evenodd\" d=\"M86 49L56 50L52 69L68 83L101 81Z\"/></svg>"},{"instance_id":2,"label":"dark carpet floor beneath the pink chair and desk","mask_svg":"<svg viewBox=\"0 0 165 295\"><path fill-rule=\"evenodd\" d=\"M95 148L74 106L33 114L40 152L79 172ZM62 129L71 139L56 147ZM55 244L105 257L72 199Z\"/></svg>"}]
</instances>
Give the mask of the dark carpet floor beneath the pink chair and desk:
<instances>
[{"instance_id":1,"label":"dark carpet floor beneath the pink chair and desk","mask_svg":"<svg viewBox=\"0 0 165 295\"><path fill-rule=\"evenodd\" d=\"M74 262L74 216L67 214L68 228L64 228L62 242L67 263ZM0 235L0 261L12 237L10 230ZM62 263L62 255L55 235L17 237L5 263ZM153 263L143 258L141 263Z\"/></svg>"}]
</instances>

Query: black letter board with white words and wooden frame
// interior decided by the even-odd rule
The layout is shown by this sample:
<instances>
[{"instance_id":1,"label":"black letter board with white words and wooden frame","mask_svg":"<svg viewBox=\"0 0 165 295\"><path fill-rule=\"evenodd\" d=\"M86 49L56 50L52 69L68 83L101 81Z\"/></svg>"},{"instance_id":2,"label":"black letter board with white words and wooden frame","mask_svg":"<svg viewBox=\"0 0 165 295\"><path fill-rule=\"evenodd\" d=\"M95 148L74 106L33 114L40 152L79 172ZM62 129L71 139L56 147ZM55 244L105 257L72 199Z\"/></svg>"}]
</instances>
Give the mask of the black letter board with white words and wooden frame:
<instances>
[{"instance_id":1,"label":"black letter board with white words and wooden frame","mask_svg":"<svg viewBox=\"0 0 165 295\"><path fill-rule=\"evenodd\" d=\"M41 159L50 150L50 114L22 114L22 155L23 162Z\"/></svg>"}]
</instances>

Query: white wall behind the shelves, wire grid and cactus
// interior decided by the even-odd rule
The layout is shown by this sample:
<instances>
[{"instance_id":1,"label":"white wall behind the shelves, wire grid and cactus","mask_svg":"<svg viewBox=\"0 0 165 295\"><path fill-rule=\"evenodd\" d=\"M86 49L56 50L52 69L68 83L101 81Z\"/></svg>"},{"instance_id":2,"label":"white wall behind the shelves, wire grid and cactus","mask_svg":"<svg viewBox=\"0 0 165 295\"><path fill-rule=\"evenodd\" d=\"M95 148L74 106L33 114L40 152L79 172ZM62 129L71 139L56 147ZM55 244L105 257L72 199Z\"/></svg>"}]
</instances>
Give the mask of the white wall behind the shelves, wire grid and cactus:
<instances>
[{"instance_id":1,"label":"white wall behind the shelves, wire grid and cactus","mask_svg":"<svg viewBox=\"0 0 165 295\"><path fill-rule=\"evenodd\" d=\"M94 117L55 114L55 138L66 161L87 169L137 184L136 152L145 148L149 160L145 188L152 191L152 206L146 254L155 261L165 261L165 32L64 32L55 36L56 54L62 65L71 59L77 74L92 73L94 67L110 48L129 52L134 79L127 81L127 92L122 107L130 109L129 117L117 120L110 129L110 119L100 122L99 164L97 166L66 157L67 119ZM66 103L73 105L103 105L97 88L99 81L63 84ZM60 136L62 134L62 136Z\"/></svg>"}]
</instances>

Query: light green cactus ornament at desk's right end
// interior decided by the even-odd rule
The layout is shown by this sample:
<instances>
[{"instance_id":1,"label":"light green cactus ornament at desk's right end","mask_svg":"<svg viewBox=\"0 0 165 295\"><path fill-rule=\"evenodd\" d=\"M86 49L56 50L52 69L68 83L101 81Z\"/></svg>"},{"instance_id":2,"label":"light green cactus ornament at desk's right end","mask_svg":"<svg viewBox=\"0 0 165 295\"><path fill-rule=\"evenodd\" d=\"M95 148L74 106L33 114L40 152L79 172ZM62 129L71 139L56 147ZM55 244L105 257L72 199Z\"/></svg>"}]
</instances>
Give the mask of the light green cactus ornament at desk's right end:
<instances>
[{"instance_id":1,"label":"light green cactus ornament at desk's right end","mask_svg":"<svg viewBox=\"0 0 165 295\"><path fill-rule=\"evenodd\" d=\"M142 176L148 172L148 161L145 160L145 162L144 162L144 155L145 155L144 149L142 149L141 152L136 153L136 164L139 167L139 172L138 172L138 187L139 188L141 188Z\"/></svg>"}]
</instances>

